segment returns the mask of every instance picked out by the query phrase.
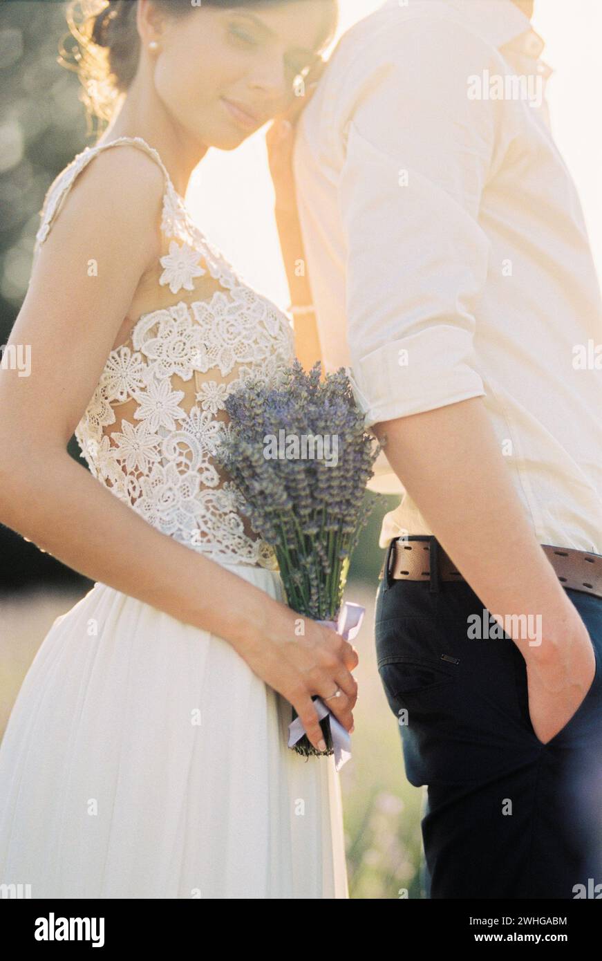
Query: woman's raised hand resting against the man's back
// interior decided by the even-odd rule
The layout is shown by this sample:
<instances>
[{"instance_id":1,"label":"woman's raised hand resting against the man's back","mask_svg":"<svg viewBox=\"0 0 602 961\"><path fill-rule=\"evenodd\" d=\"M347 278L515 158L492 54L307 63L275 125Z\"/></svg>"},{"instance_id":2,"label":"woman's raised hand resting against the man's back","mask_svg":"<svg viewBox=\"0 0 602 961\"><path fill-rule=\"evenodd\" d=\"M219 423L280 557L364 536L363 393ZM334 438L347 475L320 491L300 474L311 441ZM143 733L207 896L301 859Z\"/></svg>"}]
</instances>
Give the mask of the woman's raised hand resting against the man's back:
<instances>
[{"instance_id":1,"label":"woman's raised hand resting against the man's back","mask_svg":"<svg viewBox=\"0 0 602 961\"><path fill-rule=\"evenodd\" d=\"M293 147L297 123L313 97L318 81L324 73L326 61L318 60L304 78L304 92L295 96L288 111L275 117L266 134L270 173L276 191L279 210L296 210L295 180L293 177Z\"/></svg>"}]
</instances>

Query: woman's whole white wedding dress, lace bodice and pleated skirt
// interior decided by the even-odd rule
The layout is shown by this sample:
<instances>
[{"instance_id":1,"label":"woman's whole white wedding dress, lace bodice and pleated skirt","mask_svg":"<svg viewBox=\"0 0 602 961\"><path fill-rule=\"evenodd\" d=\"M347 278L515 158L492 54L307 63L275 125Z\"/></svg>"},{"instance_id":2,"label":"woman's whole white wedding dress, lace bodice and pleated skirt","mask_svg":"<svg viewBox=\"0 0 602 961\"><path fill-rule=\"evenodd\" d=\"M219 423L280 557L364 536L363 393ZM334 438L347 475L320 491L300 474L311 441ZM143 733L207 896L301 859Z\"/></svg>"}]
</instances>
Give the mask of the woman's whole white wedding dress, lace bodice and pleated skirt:
<instances>
[{"instance_id":1,"label":"woman's whole white wedding dress, lace bodice and pleated skirt","mask_svg":"<svg viewBox=\"0 0 602 961\"><path fill-rule=\"evenodd\" d=\"M113 349L76 436L90 471L158 530L283 599L271 548L211 450L229 390L293 345L165 178L157 305ZM65 518L65 524L68 524ZM97 582L43 640L0 746L0 883L33 898L347 898L333 758L286 746L290 705L229 644ZM26 890L25 888L22 890Z\"/></svg>"}]
</instances>

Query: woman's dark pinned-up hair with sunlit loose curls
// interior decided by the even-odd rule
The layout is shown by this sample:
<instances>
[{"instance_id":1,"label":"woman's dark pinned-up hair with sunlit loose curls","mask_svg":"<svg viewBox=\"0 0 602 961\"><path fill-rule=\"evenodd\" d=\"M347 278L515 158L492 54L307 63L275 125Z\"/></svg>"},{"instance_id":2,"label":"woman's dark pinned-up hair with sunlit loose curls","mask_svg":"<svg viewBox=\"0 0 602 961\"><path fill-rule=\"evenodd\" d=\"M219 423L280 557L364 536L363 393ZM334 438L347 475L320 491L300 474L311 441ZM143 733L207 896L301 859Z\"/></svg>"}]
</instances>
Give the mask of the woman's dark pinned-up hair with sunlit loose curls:
<instances>
[{"instance_id":1,"label":"woman's dark pinned-up hair with sunlit loose curls","mask_svg":"<svg viewBox=\"0 0 602 961\"><path fill-rule=\"evenodd\" d=\"M286 0L203 0L203 6L270 7L283 2ZM336 0L323 2L328 14L321 38L325 46L336 30L337 4ZM172 16L199 9L191 0L153 0L153 3ZM67 6L67 24L77 45L70 53L63 45L60 62L78 73L84 87L81 99L90 120L93 117L110 120L118 97L132 84L140 56L135 11L136 0L71 0Z\"/></svg>"}]
</instances>

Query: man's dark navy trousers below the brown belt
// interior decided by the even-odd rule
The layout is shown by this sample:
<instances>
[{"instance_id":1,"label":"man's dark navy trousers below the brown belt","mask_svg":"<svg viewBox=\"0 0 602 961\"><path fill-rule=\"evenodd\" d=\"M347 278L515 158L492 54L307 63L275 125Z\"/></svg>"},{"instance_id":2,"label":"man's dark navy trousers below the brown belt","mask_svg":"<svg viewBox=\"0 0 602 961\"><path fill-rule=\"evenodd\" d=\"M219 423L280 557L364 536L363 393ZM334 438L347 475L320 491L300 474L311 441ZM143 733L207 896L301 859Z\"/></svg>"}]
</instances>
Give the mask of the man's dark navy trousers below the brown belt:
<instances>
[{"instance_id":1,"label":"man's dark navy trousers below the brown belt","mask_svg":"<svg viewBox=\"0 0 602 961\"><path fill-rule=\"evenodd\" d=\"M434 537L419 539L436 554ZM489 612L466 581L380 583L378 672L406 776L427 785L430 898L602 898L602 598L566 594L590 632L595 676L543 744L522 653L487 628L470 636Z\"/></svg>"}]
</instances>

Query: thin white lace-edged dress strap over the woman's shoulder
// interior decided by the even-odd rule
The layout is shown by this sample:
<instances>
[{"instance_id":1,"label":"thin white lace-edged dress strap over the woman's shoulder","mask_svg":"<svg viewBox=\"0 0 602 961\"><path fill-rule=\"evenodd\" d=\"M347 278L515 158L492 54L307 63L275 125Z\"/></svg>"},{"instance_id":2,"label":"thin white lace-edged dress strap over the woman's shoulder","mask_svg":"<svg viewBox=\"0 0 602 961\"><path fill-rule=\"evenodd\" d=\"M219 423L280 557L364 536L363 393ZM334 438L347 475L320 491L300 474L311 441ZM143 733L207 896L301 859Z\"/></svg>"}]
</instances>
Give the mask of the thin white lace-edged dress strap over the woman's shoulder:
<instances>
[{"instance_id":1,"label":"thin white lace-edged dress strap over the woman's shoulder","mask_svg":"<svg viewBox=\"0 0 602 961\"><path fill-rule=\"evenodd\" d=\"M176 188L171 182L167 168L165 167L163 161L160 159L157 150L154 147L149 146L146 140L143 140L140 136L120 136L116 140L111 140L108 143L101 143L95 147L85 147L81 154L69 163L68 166L64 168L48 188L46 197L44 200L44 205L39 211L41 222L39 230L36 233L36 245L37 247L44 242L50 229L60 212L60 209L64 203L64 200L71 189L71 186L75 183L76 178L84 170L84 167L93 160L98 154L103 150L108 150L110 147L117 147L121 144L128 144L132 147L138 147L138 149L143 150L149 157L151 157L158 166L163 171L163 176L165 178L165 191L163 194L163 212L161 218L161 232L163 234L177 234L177 226L182 217L183 202L180 195L176 191Z\"/></svg>"}]
</instances>

